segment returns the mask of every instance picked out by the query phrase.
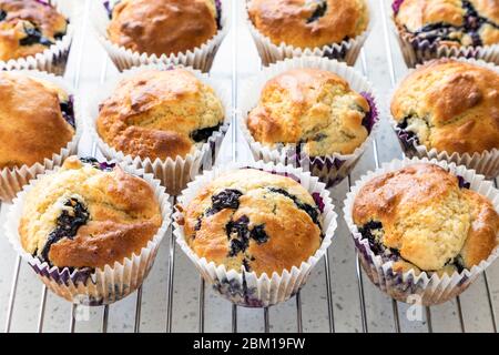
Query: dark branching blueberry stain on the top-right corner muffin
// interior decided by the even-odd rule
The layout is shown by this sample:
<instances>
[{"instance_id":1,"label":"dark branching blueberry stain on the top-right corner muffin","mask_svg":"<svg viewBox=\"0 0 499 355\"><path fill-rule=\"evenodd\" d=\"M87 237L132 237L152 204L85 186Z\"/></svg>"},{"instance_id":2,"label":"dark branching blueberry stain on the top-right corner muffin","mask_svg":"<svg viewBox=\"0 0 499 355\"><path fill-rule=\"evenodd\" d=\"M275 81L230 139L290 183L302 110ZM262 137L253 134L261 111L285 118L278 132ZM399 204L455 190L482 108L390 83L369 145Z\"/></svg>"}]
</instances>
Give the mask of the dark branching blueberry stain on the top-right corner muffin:
<instances>
[{"instance_id":1,"label":"dark branching blueberry stain on the top-right corner muffin","mask_svg":"<svg viewBox=\"0 0 499 355\"><path fill-rule=\"evenodd\" d=\"M427 40L430 43L438 41L456 41L459 39L451 38L450 34L457 31L464 31L471 37L473 45L482 45L479 31L483 24L489 24L496 29L499 26L491 20L480 16L471 2L462 1L462 8L466 10L464 24L452 26L446 22L429 23L415 32L420 40Z\"/></svg>"}]
</instances>

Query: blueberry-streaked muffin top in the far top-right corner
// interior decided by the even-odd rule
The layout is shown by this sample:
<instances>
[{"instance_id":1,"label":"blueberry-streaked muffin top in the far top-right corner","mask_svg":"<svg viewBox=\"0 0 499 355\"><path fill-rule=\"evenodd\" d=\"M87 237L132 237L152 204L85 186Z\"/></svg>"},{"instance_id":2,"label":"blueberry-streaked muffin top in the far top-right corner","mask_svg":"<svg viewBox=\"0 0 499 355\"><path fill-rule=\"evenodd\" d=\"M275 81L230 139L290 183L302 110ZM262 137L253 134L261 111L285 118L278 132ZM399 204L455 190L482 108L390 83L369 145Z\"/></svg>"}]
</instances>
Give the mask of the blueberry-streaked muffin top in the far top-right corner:
<instances>
[{"instance_id":1,"label":"blueberry-streaked muffin top in the far top-right corner","mask_svg":"<svg viewBox=\"0 0 499 355\"><path fill-rule=\"evenodd\" d=\"M497 0L404 0L395 22L419 41L465 47L499 43Z\"/></svg>"}]
</instances>

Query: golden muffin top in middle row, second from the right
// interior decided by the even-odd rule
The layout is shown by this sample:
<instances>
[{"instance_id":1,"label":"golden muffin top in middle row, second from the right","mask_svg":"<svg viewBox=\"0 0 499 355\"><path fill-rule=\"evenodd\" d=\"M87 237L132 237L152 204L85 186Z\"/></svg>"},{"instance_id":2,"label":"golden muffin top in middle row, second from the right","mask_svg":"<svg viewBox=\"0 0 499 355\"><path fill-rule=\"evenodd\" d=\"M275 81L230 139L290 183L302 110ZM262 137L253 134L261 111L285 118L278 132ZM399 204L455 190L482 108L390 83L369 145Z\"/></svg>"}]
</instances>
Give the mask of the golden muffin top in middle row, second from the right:
<instances>
[{"instance_id":1,"label":"golden muffin top in middle row, second from the right","mask_svg":"<svg viewBox=\"0 0 499 355\"><path fill-rule=\"evenodd\" d=\"M367 138L369 103L333 72L292 69L269 80L248 113L255 141L304 144L312 156L349 154Z\"/></svg>"}]
</instances>

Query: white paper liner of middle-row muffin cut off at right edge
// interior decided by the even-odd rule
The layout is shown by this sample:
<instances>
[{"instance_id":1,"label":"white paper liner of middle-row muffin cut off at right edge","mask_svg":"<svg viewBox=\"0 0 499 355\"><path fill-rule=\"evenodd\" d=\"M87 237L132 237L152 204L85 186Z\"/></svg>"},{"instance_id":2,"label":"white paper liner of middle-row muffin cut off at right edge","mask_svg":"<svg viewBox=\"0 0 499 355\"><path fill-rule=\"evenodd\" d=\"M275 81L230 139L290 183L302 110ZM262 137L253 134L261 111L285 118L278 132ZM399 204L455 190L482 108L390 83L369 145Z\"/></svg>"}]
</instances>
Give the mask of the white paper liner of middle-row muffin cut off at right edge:
<instances>
[{"instance_id":1,"label":"white paper liner of middle-row muffin cut off at right edge","mask_svg":"<svg viewBox=\"0 0 499 355\"><path fill-rule=\"evenodd\" d=\"M493 70L499 73L499 67L493 65L491 63L487 63L482 60L476 60L476 59L465 59L465 58L452 58L460 62L466 62L475 65L480 65L490 70ZM420 65L418 64L416 69L418 69ZM408 71L408 75L410 75L416 69L411 69ZM401 79L400 82L396 85L398 88L401 82L405 80ZM394 89L390 98L394 98L394 94L397 89ZM391 99L393 100L393 99ZM390 122L391 128L394 129L395 133L397 134L397 138L399 140L400 146L405 154L409 158L411 156L418 156L418 158L429 158L429 159L436 159L436 160L445 160L447 162L454 162L456 165L466 165L468 169L473 169L477 171L477 173L486 175L488 179L495 179L499 175L499 149L492 149L490 151L483 151L481 153L449 153L446 151L437 151L437 149L432 148L428 150L425 145L419 144L416 139L409 138L407 135L407 132L399 129L397 126L398 122L394 119L391 115L391 112L388 114L388 120Z\"/></svg>"}]
</instances>

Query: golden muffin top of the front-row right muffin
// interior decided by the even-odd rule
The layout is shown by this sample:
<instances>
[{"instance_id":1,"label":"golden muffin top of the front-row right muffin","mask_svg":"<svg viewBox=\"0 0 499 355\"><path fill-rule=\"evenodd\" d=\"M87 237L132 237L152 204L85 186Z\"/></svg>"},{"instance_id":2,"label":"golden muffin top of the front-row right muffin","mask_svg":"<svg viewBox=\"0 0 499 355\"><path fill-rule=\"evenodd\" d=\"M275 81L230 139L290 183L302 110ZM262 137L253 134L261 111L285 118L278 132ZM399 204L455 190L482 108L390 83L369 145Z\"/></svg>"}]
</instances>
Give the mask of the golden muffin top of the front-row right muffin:
<instances>
[{"instance_id":1,"label":"golden muffin top of the front-row right muffin","mask_svg":"<svg viewBox=\"0 0 499 355\"><path fill-rule=\"evenodd\" d=\"M395 268L447 272L471 268L498 244L499 215L480 194L434 164L420 163L367 182L354 223L373 252Z\"/></svg>"}]
</instances>

